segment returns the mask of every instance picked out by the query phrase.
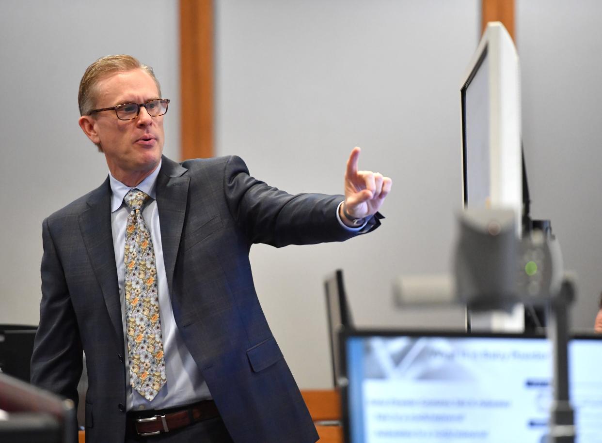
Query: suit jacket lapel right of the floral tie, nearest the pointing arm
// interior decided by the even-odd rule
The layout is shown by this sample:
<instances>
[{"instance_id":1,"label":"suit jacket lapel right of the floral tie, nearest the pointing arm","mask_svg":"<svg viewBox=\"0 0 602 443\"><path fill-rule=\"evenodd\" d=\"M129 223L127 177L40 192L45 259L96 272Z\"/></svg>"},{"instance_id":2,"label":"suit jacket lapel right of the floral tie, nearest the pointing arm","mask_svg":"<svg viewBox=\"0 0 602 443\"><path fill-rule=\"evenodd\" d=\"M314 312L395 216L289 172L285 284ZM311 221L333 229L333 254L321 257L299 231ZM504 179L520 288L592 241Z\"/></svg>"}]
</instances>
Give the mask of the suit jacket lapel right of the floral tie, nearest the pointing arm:
<instances>
[{"instance_id":1,"label":"suit jacket lapel right of the floral tie, nearest the pointing arm","mask_svg":"<svg viewBox=\"0 0 602 443\"><path fill-rule=\"evenodd\" d=\"M173 272L187 210L190 176L182 175L186 171L186 168L164 156L157 177L157 206L161 225L163 261L171 294L173 294Z\"/></svg>"}]
</instances>

